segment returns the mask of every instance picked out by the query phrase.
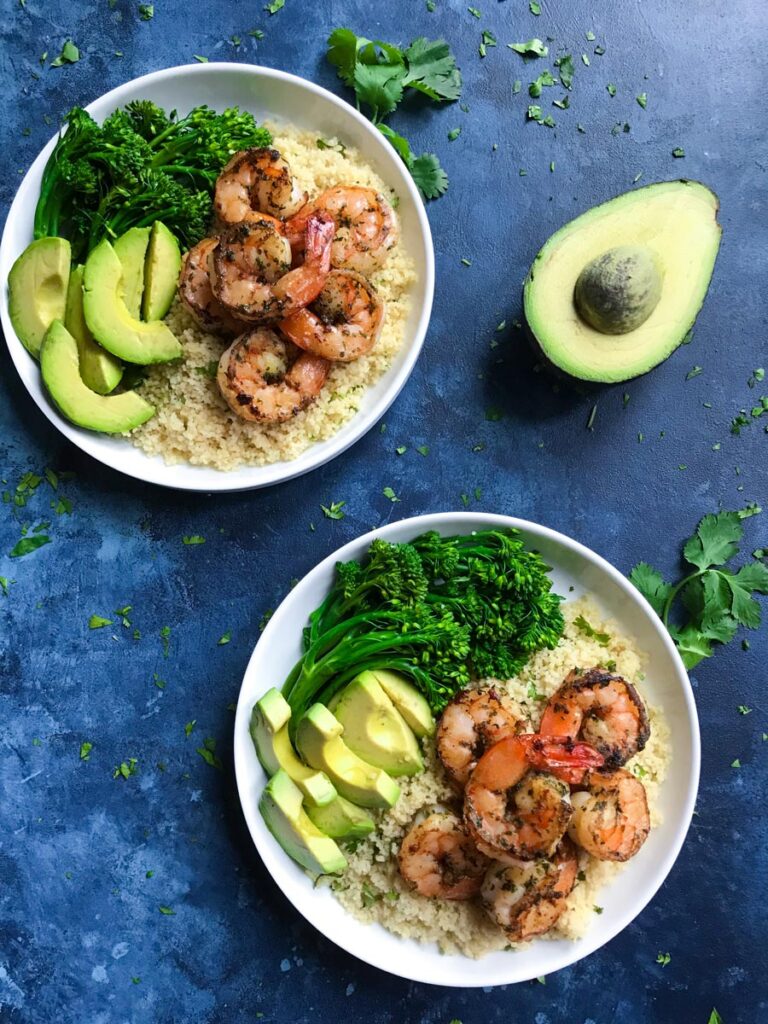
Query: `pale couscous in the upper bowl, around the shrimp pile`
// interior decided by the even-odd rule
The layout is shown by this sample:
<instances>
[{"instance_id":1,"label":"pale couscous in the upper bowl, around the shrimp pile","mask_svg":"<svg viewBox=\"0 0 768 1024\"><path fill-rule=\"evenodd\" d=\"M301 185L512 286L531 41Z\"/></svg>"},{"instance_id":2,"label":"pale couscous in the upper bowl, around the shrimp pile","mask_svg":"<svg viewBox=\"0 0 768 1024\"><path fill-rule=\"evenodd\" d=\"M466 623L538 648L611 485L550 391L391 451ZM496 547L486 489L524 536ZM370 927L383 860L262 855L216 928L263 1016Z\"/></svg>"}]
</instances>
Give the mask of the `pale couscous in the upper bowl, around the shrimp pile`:
<instances>
[{"instance_id":1,"label":"pale couscous in the upper bowl, around the shrimp pile","mask_svg":"<svg viewBox=\"0 0 768 1024\"><path fill-rule=\"evenodd\" d=\"M338 182L359 184L392 197L385 182L356 150L328 140L317 146L316 132L286 125L267 125L274 145L288 160L299 183L310 196ZM396 201L396 197L392 197ZM379 340L370 354L354 362L334 364L319 397L287 423L253 423L237 417L221 396L216 366L227 342L208 334L176 301L166 323L181 341L180 360L153 367L140 393L157 409L147 423L131 434L147 455L168 463L187 462L222 471L241 465L265 465L296 459L310 444L332 437L357 412L362 392L389 368L404 339L414 260L402 241L386 265L372 276L386 303Z\"/></svg>"}]
</instances>

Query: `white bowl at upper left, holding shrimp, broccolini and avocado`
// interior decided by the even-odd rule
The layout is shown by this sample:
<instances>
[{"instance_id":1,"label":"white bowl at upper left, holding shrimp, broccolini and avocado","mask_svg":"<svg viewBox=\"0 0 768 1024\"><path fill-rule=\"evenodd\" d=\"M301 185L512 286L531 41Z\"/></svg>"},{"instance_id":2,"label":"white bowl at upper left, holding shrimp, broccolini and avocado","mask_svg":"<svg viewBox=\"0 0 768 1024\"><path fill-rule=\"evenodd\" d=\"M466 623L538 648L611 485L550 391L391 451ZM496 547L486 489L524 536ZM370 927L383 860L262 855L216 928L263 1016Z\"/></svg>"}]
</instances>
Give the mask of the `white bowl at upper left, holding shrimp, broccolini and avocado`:
<instances>
[{"instance_id":1,"label":"white bowl at upper left, holding shrimp, broccolini and avocado","mask_svg":"<svg viewBox=\"0 0 768 1024\"><path fill-rule=\"evenodd\" d=\"M419 280L406 327L406 340L388 371L360 399L357 414L337 434L318 441L292 462L244 466L227 473L200 466L166 466L124 438L92 433L69 423L51 403L40 368L16 337L8 315L5 282L13 261L32 241L32 228L43 169L55 144L51 139L27 173L8 213L0 244L0 321L11 358L30 395L62 434L79 449L129 476L182 490L246 490L265 487L307 473L334 459L384 415L411 375L429 324L434 291L434 251L424 204L406 166L381 133L352 106L295 75L252 65L206 63L169 68L134 79L90 103L87 110L102 121L132 99L153 99L165 110L185 114L207 103L221 111L238 105L261 121L270 118L310 128L318 136L337 135L355 146L387 184L397 193L402 244L416 261Z\"/></svg>"}]
</instances>

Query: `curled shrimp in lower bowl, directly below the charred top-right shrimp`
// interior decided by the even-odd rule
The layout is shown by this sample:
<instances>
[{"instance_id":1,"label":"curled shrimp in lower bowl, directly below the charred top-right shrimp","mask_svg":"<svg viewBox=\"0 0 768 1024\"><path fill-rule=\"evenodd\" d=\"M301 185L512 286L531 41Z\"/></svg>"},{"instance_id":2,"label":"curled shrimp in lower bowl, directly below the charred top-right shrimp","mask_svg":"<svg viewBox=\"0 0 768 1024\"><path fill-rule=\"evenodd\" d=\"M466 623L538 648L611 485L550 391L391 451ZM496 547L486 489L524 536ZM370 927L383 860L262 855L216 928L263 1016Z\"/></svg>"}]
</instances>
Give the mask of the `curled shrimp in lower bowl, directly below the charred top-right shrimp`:
<instances>
[{"instance_id":1,"label":"curled shrimp in lower bowl, directly below the charred top-right shrimp","mask_svg":"<svg viewBox=\"0 0 768 1024\"><path fill-rule=\"evenodd\" d=\"M571 796L573 817L568 835L598 860L629 860L650 831L645 786L631 772L592 771L587 790Z\"/></svg>"}]
</instances>

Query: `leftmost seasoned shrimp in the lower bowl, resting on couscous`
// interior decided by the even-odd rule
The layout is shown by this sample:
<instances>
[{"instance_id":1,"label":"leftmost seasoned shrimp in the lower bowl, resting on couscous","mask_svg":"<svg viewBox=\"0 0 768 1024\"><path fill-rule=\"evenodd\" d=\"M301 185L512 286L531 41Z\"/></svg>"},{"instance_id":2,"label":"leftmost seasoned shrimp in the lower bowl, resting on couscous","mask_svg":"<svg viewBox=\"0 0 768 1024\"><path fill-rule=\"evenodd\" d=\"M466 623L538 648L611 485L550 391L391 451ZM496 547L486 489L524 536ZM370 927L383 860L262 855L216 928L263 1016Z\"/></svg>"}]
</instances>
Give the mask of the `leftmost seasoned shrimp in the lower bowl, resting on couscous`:
<instances>
[{"instance_id":1,"label":"leftmost seasoned shrimp in the lower bowl, resting on couscous","mask_svg":"<svg viewBox=\"0 0 768 1024\"><path fill-rule=\"evenodd\" d=\"M422 896L471 899L480 891L488 866L461 819L455 814L430 814L402 840L400 874Z\"/></svg>"}]
</instances>

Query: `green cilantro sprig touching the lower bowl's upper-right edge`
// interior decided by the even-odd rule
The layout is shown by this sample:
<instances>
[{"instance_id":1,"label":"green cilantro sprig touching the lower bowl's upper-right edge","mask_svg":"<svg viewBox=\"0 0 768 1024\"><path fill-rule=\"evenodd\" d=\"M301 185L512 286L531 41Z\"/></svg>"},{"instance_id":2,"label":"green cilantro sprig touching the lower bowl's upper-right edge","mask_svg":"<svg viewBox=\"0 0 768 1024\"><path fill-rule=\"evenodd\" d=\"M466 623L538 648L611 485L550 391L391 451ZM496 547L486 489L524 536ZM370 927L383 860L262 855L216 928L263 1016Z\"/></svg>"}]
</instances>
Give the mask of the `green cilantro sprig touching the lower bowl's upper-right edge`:
<instances>
[{"instance_id":1,"label":"green cilantro sprig touching the lower bowl's upper-right edge","mask_svg":"<svg viewBox=\"0 0 768 1024\"><path fill-rule=\"evenodd\" d=\"M754 595L768 594L768 565L755 560L736 571L725 567L738 553L742 537L738 512L706 515L683 547L692 571L679 583L667 583L647 562L630 573L631 583L669 629L686 669L711 657L713 643L729 643L739 626L751 630L760 626L761 607ZM670 622L678 598L687 613L682 625Z\"/></svg>"}]
</instances>

